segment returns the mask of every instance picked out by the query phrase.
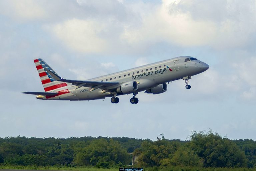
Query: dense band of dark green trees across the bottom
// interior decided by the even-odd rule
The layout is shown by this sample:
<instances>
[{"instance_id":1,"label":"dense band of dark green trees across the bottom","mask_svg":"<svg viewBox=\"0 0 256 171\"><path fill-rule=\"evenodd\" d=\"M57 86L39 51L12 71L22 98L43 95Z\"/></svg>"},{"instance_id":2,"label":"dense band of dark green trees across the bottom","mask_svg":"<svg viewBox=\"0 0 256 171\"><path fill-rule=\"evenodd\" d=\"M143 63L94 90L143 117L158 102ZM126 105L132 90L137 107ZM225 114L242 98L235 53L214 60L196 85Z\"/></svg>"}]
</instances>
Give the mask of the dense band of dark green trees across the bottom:
<instances>
[{"instance_id":1,"label":"dense band of dark green trees across the bottom","mask_svg":"<svg viewBox=\"0 0 256 171\"><path fill-rule=\"evenodd\" d=\"M230 140L211 130L190 140L127 137L0 138L0 165L122 167L256 167L256 141Z\"/></svg>"}]
</instances>

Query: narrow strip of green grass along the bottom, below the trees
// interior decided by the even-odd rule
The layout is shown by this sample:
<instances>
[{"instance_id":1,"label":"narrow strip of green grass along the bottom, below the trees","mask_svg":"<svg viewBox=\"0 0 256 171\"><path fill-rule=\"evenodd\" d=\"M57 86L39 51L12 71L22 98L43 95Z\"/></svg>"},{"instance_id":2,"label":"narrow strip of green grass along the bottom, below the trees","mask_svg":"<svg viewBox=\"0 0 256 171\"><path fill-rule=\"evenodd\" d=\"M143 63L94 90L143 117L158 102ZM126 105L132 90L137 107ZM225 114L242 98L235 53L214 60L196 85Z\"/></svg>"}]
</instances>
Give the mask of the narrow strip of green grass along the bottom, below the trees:
<instances>
[{"instance_id":1,"label":"narrow strip of green grass along the bottom, below the trees","mask_svg":"<svg viewBox=\"0 0 256 171\"><path fill-rule=\"evenodd\" d=\"M118 168L102 169L95 167L37 167L37 166L3 166L0 169L21 169L21 170L74 170L74 171L118 171ZM168 168L144 168L144 171L256 171L256 168L202 168L173 166Z\"/></svg>"}]
</instances>

